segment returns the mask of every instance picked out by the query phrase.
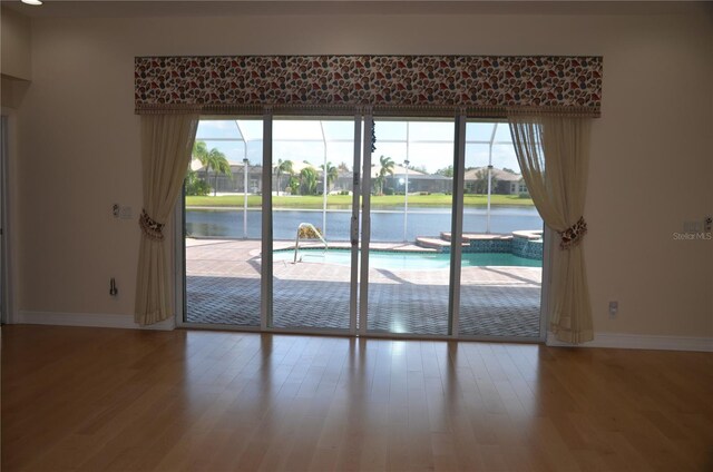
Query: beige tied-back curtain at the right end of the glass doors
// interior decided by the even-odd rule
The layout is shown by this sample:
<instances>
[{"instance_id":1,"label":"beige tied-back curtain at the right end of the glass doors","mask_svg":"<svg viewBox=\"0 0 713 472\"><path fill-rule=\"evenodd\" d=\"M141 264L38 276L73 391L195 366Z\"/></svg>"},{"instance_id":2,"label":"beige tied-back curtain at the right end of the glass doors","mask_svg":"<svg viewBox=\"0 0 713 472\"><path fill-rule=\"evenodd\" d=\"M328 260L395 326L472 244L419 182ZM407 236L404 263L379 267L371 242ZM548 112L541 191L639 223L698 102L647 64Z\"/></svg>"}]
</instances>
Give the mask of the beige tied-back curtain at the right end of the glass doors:
<instances>
[{"instance_id":1,"label":"beige tied-back curtain at the right end of the glass doors","mask_svg":"<svg viewBox=\"0 0 713 472\"><path fill-rule=\"evenodd\" d=\"M510 116L522 177L545 224L559 236L553 257L550 328L557 340L594 338L582 238L590 118Z\"/></svg>"}]
</instances>

